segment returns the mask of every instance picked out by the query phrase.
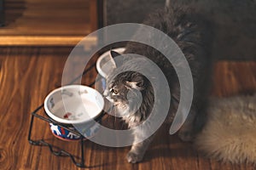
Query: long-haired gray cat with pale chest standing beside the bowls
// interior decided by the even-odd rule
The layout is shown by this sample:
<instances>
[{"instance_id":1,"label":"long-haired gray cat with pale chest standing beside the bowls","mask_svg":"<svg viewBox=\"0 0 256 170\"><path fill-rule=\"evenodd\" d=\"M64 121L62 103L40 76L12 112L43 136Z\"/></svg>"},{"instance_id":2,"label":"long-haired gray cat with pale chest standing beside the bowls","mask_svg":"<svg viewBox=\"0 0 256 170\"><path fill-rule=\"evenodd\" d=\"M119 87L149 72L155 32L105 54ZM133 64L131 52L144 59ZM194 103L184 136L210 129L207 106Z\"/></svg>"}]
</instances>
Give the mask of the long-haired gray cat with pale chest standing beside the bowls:
<instances>
[{"instance_id":1,"label":"long-haired gray cat with pale chest standing beside the bowls","mask_svg":"<svg viewBox=\"0 0 256 170\"><path fill-rule=\"evenodd\" d=\"M169 37L172 37L172 40L183 51L189 63L194 82L194 98L189 116L186 122L184 122L183 127L179 130L179 137L186 141L191 140L195 133L195 116L203 112L202 106L205 105L207 97L207 82L209 82L209 74L212 68L212 60L209 54L212 41L211 26L202 16L189 11L189 8L180 7L156 11L143 24L153 26L165 32ZM140 35L135 36L139 37ZM148 41L154 41L154 38L156 38L154 36L148 35L146 38L148 38ZM167 51L172 50L168 48L168 44L158 45L166 47ZM113 58L120 55L114 51L111 51L111 54ZM180 99L180 86L172 64L155 48L138 42L128 42L124 54L143 55L158 65L164 73L170 87L170 93L172 94L171 107L166 122L172 122ZM172 54L172 51L169 54ZM131 57L134 57L134 59L124 60L117 64L117 68L107 77L107 89L104 92L104 95L115 106L115 114L122 116L122 119L130 128L137 127L143 123L150 115L154 102L157 102L154 99L153 84L139 71L132 71L133 69L148 69L148 75L150 76L150 68L147 68L147 65L139 64L139 62L143 63L143 59L137 61L136 55ZM131 71L126 71L127 69ZM121 73L117 74L117 72ZM152 78L157 77L152 76ZM159 87L156 90L160 89L161 82L158 82L156 86ZM143 98L142 102L137 103L136 99L140 95ZM127 96L129 96L129 99ZM161 112L158 114L161 114ZM143 133L147 133L149 129L150 126L148 126L148 129L143 129L143 131L135 131L134 140L142 139ZM143 142L133 144L127 154L127 161L131 163L142 161L143 155L152 139L154 139L154 134L148 139L143 140Z\"/></svg>"}]
</instances>

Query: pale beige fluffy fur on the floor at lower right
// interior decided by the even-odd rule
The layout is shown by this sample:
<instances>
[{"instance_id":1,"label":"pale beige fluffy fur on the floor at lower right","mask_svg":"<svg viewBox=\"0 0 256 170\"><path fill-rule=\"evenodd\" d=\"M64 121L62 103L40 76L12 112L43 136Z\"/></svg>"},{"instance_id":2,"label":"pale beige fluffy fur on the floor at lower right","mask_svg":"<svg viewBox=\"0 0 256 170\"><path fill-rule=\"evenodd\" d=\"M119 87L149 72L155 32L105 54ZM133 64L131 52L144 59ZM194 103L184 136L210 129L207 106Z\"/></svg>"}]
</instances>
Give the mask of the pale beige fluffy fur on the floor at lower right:
<instances>
[{"instance_id":1,"label":"pale beige fluffy fur on the floor at lower right","mask_svg":"<svg viewBox=\"0 0 256 170\"><path fill-rule=\"evenodd\" d=\"M221 161L256 162L256 94L212 99L195 147Z\"/></svg>"}]
</instances>

